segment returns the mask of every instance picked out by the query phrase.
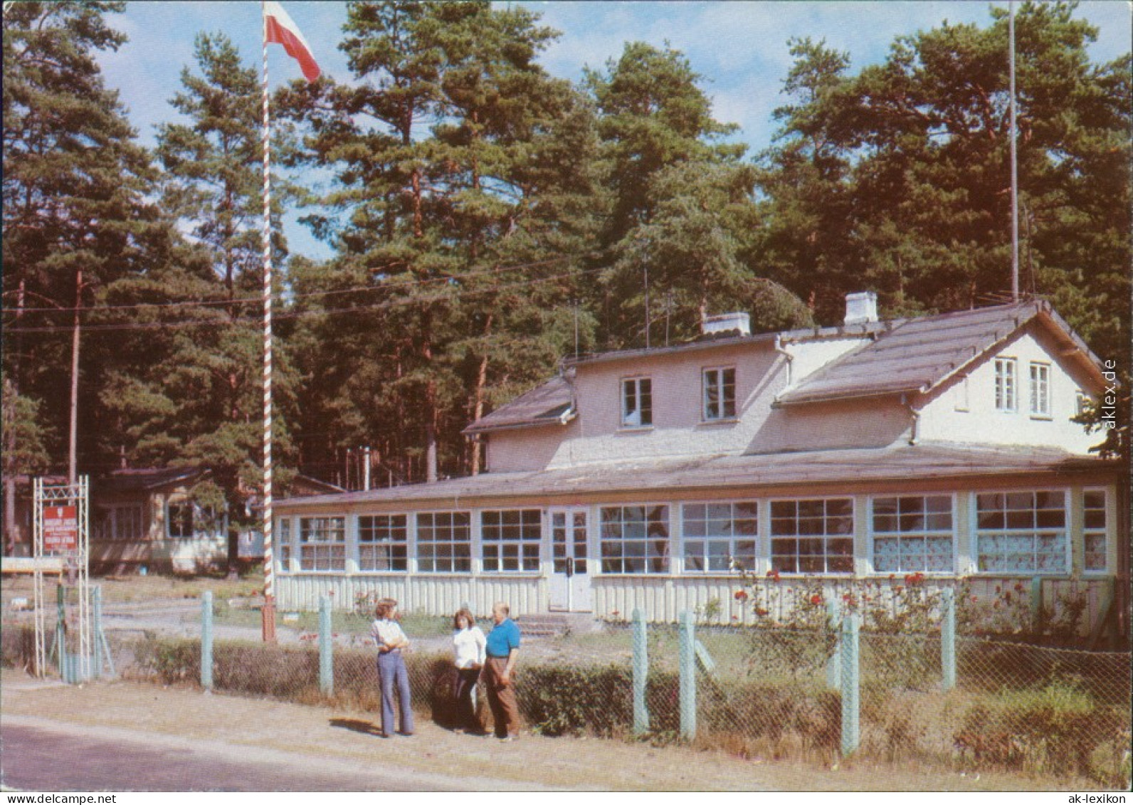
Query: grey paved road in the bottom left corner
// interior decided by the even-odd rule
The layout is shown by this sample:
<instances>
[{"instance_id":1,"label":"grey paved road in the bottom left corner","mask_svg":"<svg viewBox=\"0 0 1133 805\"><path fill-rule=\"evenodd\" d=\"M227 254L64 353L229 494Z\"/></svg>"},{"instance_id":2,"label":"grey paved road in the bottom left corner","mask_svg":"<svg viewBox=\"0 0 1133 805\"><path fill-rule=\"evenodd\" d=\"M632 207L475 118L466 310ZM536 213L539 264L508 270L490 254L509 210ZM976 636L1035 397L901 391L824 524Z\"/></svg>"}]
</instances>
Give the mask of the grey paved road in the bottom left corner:
<instances>
[{"instance_id":1,"label":"grey paved road in the bottom left corner","mask_svg":"<svg viewBox=\"0 0 1133 805\"><path fill-rule=\"evenodd\" d=\"M271 749L236 759L190 740L28 717L5 715L0 744L0 780L27 791L443 791L468 785Z\"/></svg>"}]
</instances>

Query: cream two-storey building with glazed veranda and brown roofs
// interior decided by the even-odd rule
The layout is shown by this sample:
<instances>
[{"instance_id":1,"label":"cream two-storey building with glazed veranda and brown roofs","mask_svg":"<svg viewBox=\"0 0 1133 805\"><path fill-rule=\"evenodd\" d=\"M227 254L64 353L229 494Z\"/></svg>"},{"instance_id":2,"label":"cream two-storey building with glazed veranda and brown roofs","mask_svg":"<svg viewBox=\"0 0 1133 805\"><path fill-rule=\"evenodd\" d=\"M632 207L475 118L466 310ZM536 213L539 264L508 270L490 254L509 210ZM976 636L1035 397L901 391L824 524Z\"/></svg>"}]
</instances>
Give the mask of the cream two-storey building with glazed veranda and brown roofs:
<instances>
[{"instance_id":1,"label":"cream two-storey building with glazed veranda and brown roofs","mask_svg":"<svg viewBox=\"0 0 1133 805\"><path fill-rule=\"evenodd\" d=\"M1075 422L1106 366L1047 303L749 334L566 361L472 423L487 472L280 501L276 594L391 595L407 611L591 611L653 619L764 575L922 573L990 590L1089 588L1096 618L1127 550L1127 488ZM1053 600L1053 599L1051 599Z\"/></svg>"}]
</instances>

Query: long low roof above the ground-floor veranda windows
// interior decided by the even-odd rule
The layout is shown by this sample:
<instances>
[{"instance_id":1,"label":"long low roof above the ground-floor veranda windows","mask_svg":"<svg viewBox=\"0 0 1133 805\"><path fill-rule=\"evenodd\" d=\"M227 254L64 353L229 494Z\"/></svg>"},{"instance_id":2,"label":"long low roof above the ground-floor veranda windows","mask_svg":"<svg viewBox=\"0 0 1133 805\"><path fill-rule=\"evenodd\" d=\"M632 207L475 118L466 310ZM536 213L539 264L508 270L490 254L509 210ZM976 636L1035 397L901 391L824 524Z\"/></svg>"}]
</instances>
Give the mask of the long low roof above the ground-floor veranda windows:
<instances>
[{"instance_id":1,"label":"long low roof above the ground-floor veranda windows","mask_svg":"<svg viewBox=\"0 0 1133 805\"><path fill-rule=\"evenodd\" d=\"M1051 448L979 447L940 443L777 452L697 456L580 465L523 473L483 473L436 483L316 495L280 501L280 509L314 505L435 502L459 506L468 499L637 492L670 497L675 490L807 486L857 482L1005 475L1062 475L1116 471L1119 463ZM467 503L465 503L467 505Z\"/></svg>"}]
</instances>

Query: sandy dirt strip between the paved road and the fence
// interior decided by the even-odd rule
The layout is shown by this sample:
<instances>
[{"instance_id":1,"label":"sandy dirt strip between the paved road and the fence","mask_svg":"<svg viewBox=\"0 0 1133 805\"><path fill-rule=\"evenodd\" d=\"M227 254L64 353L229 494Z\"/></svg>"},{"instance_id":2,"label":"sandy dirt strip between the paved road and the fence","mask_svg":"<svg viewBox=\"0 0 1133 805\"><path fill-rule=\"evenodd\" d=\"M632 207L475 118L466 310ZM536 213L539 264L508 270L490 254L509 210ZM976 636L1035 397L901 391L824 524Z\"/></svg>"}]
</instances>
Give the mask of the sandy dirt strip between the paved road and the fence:
<instances>
[{"instance_id":1,"label":"sandy dirt strip between the paved road and the fence","mask_svg":"<svg viewBox=\"0 0 1133 805\"><path fill-rule=\"evenodd\" d=\"M1049 780L963 776L843 762L818 768L740 760L689 747L525 735L513 744L457 735L428 722L412 738L382 740L374 714L240 698L194 688L133 681L65 686L3 669L0 718L69 726L86 735L128 732L153 743L178 739L223 752L276 751L327 762L376 762L423 779L463 780L469 789L514 787L574 790L1056 790ZM1065 783L1063 783L1065 786Z\"/></svg>"}]
</instances>

